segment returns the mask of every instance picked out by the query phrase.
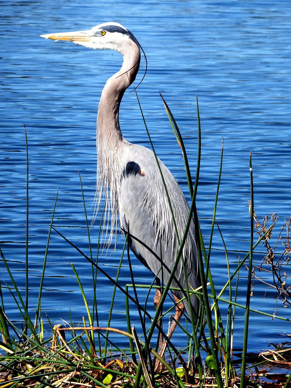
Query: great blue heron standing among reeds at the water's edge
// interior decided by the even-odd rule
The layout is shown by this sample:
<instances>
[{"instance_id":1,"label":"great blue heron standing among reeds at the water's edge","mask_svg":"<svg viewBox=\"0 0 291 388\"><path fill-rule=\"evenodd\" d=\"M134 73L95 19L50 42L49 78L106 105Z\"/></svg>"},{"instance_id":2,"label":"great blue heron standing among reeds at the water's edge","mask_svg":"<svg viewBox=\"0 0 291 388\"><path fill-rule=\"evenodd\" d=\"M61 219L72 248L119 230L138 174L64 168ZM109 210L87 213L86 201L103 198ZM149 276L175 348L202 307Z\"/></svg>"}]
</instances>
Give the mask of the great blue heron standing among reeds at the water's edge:
<instances>
[{"instance_id":1,"label":"great blue heron standing among reeds at the water's edge","mask_svg":"<svg viewBox=\"0 0 291 388\"><path fill-rule=\"evenodd\" d=\"M108 196L110 188L111 207L111 236L116 225L116 215L119 211L121 227L144 242L152 251L156 252L160 260L135 239L129 239L130 248L137 258L166 284L178 250L178 240L175 234L170 206L166 197L161 173L154 154L151 150L129 143L122 136L119 125L119 107L125 90L133 83L140 64L140 44L128 29L118 23L103 23L86 31L54 33L41 35L43 38L55 40L69 40L92 49L112 49L123 55L123 64L116 74L106 82L97 115L96 144L100 182ZM177 223L178 234L183 236L189 205L177 181L168 168L159 160L173 214ZM187 272L189 289L199 287L197 273L197 248L195 241L194 222L191 222L185 242L183 257ZM165 267L161 270L161 262ZM168 268L168 270L166 269ZM175 272L175 278L185 288L182 259ZM157 284L160 284L159 281ZM172 281L171 286L177 287ZM168 338L171 337L176 322L180 319L185 308L189 314L187 299L182 291L172 291L176 303L175 320L171 323ZM154 305L157 308L161 300L161 291L156 289ZM179 302L179 303L178 303ZM194 294L191 304L197 311L198 302ZM166 341L160 335L159 352L163 356Z\"/></svg>"}]
</instances>

